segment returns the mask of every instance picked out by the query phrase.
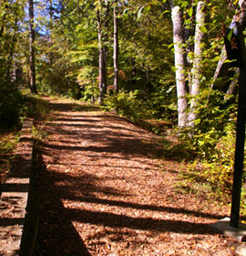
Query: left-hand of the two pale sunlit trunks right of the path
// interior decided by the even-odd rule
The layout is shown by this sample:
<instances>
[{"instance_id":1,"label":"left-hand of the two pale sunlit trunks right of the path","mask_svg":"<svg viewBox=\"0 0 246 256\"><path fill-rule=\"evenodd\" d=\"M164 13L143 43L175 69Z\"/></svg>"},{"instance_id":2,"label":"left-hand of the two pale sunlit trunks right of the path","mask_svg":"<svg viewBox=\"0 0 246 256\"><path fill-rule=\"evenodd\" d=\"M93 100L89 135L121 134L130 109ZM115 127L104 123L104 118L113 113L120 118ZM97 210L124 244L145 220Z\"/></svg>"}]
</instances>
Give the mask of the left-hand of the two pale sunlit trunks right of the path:
<instances>
[{"instance_id":1,"label":"left-hand of the two pale sunlit trunks right of the path","mask_svg":"<svg viewBox=\"0 0 246 256\"><path fill-rule=\"evenodd\" d=\"M187 86L185 82L185 56L182 49L184 43L182 15L179 6L172 5L173 43L176 68L176 86L178 97L178 126L184 127L188 122Z\"/></svg>"}]
</instances>

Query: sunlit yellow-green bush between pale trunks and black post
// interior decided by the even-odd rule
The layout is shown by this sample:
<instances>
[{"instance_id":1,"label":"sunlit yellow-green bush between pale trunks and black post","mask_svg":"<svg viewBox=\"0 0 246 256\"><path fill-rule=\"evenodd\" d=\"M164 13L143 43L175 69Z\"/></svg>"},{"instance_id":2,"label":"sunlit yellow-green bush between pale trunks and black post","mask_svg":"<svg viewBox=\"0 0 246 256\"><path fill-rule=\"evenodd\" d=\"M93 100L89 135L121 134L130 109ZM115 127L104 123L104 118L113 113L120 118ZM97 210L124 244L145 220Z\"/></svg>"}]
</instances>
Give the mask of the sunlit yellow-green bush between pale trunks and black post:
<instances>
[{"instance_id":1,"label":"sunlit yellow-green bush between pale trunks and black post","mask_svg":"<svg viewBox=\"0 0 246 256\"><path fill-rule=\"evenodd\" d=\"M181 133L186 147L196 154L184 178L208 185L214 196L228 199L234 171L235 99L225 98L221 91L204 90L196 100L197 120Z\"/></svg>"}]
</instances>

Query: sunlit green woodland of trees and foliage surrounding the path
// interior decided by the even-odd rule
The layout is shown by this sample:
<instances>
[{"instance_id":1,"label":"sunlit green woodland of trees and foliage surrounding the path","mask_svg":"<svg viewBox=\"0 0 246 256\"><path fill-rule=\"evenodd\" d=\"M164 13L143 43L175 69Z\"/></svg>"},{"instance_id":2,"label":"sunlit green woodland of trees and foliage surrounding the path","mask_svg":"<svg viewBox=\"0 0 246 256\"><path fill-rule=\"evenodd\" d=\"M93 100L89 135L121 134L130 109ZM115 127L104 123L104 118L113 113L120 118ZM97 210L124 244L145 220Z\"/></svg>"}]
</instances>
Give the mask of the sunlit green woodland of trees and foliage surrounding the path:
<instances>
[{"instance_id":1,"label":"sunlit green woodland of trees and foliage surrounding the path","mask_svg":"<svg viewBox=\"0 0 246 256\"><path fill-rule=\"evenodd\" d=\"M239 71L223 37L233 20L246 27L245 2L1 0L1 161L12 148L5 133L34 111L20 91L28 88L99 104L175 136L163 152L190 162L182 186L206 184L227 203ZM149 126L154 120L172 129ZM243 186L242 211L245 195Z\"/></svg>"}]
</instances>

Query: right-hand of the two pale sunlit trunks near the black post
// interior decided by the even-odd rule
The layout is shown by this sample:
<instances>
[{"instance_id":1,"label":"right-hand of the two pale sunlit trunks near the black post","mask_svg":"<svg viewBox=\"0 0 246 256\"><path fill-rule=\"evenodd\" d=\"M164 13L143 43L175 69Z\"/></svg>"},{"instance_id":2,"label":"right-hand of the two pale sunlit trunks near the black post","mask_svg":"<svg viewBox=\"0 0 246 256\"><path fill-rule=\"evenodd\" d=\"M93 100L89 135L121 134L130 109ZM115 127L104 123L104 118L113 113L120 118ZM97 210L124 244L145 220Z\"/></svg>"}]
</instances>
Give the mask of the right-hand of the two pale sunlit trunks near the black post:
<instances>
[{"instance_id":1,"label":"right-hand of the two pale sunlit trunks near the black post","mask_svg":"<svg viewBox=\"0 0 246 256\"><path fill-rule=\"evenodd\" d=\"M194 125L196 119L196 106L197 100L195 97L200 92L200 79L201 79L201 62L202 62L202 40L204 37L204 32L202 32L201 27L205 26L205 12L204 12L204 1L199 1L197 5L196 14L196 30L195 30L195 46L194 46L194 60L193 67L191 69L192 74L192 84L191 84L191 101L190 101L190 125Z\"/></svg>"}]
</instances>

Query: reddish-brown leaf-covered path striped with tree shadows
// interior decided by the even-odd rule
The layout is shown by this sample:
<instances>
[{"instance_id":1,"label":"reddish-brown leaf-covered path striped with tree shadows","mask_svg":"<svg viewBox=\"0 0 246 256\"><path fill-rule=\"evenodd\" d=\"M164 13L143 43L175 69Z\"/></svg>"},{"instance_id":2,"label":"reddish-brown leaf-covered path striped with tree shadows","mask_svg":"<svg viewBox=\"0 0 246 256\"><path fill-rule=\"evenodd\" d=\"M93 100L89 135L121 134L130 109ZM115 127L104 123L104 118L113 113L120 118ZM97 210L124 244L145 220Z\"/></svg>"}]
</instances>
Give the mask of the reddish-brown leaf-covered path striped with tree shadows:
<instances>
[{"instance_id":1,"label":"reddish-brown leaf-covered path striped with tree shadows","mask_svg":"<svg viewBox=\"0 0 246 256\"><path fill-rule=\"evenodd\" d=\"M208 227L225 212L175 192L179 163L153 157L152 133L50 102L36 176L38 255L237 255Z\"/></svg>"}]
</instances>

